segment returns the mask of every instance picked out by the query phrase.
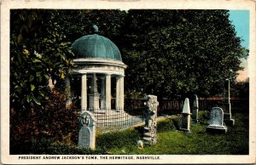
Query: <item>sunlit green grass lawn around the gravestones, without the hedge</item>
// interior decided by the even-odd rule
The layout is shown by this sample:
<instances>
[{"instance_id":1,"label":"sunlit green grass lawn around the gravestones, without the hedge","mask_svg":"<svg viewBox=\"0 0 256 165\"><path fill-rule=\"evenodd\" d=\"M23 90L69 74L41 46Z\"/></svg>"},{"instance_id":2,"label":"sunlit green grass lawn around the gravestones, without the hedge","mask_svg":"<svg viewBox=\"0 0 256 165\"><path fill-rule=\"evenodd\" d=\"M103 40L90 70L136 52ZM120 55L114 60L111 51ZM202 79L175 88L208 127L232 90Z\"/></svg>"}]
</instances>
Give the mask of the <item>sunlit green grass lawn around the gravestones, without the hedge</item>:
<instances>
[{"instance_id":1,"label":"sunlit green grass lawn around the gravestones, without the hedge","mask_svg":"<svg viewBox=\"0 0 256 165\"><path fill-rule=\"evenodd\" d=\"M106 145L108 154L125 155L247 155L248 154L248 117L247 114L233 114L236 120L234 127L228 127L227 134L210 134L205 131L207 122L202 124L193 123L191 133L183 133L175 128L159 130L157 134L157 144L144 146L143 150L137 148L137 139L115 140L115 145ZM169 119L170 120L170 119ZM159 122L158 122L159 124ZM134 130L133 130L134 131ZM114 133L119 134L119 133ZM114 134L111 136L114 137ZM101 135L100 135L101 136ZM108 134L104 135L105 138ZM136 136L134 136L136 137ZM107 138L111 140L111 138ZM101 139L99 139L101 141ZM106 140L106 139L105 139ZM120 141L119 141L120 140ZM113 142L111 142L113 143ZM104 146L101 146L104 147Z\"/></svg>"}]
</instances>

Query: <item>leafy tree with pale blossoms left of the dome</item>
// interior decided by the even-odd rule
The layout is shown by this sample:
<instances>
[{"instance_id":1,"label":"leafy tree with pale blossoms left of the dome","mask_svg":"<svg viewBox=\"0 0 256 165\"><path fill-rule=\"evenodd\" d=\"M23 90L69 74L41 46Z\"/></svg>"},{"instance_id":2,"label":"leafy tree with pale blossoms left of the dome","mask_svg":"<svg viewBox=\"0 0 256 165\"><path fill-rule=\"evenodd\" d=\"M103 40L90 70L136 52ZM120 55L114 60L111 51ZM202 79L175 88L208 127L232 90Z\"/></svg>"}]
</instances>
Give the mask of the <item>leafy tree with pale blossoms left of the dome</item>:
<instances>
[{"instance_id":1,"label":"leafy tree with pale blossoms left of the dome","mask_svg":"<svg viewBox=\"0 0 256 165\"><path fill-rule=\"evenodd\" d=\"M20 110L48 99L49 78L64 79L73 56L49 10L12 10L10 40L10 105Z\"/></svg>"}]
</instances>

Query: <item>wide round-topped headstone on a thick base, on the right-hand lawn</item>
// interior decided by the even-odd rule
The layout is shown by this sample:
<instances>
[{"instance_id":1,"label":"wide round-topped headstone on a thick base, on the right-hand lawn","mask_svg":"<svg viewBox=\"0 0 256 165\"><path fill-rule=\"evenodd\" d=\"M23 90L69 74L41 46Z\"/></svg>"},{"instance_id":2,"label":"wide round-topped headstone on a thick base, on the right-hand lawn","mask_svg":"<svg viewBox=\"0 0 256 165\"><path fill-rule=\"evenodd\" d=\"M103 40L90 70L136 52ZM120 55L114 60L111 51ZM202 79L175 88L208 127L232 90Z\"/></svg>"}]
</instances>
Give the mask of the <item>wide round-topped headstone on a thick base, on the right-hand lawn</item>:
<instances>
[{"instance_id":1,"label":"wide round-topped headstone on a thick base, on the right-hand lawn","mask_svg":"<svg viewBox=\"0 0 256 165\"><path fill-rule=\"evenodd\" d=\"M219 107L213 107L211 111L211 122L207 127L208 132L226 133L227 127L224 125L224 112Z\"/></svg>"}]
</instances>

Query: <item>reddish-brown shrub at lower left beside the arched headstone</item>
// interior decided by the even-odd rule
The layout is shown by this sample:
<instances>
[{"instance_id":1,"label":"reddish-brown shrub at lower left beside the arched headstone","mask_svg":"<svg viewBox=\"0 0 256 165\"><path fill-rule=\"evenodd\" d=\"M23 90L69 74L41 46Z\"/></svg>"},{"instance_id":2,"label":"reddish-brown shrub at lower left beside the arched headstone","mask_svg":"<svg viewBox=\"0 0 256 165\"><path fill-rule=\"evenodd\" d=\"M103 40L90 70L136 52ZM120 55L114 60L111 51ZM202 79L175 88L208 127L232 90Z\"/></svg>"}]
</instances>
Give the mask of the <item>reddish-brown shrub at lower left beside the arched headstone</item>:
<instances>
[{"instance_id":1,"label":"reddish-brown shrub at lower left beside the arched headstone","mask_svg":"<svg viewBox=\"0 0 256 165\"><path fill-rule=\"evenodd\" d=\"M32 151L32 140L52 139L67 145L78 141L79 113L73 108L66 109L66 95L53 91L48 104L37 106L31 111L10 113L10 151L23 153Z\"/></svg>"}]
</instances>

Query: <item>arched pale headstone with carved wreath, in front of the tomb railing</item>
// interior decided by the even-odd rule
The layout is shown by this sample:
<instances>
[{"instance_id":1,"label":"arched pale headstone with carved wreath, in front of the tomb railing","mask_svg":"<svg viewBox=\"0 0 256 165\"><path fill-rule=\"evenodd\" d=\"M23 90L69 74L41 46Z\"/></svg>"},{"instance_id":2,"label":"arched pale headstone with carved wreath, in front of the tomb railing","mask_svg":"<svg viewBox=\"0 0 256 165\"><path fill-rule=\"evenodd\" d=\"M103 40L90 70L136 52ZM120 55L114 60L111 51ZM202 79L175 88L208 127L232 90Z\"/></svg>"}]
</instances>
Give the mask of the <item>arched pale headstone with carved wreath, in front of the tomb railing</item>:
<instances>
[{"instance_id":1,"label":"arched pale headstone with carved wreath, in front of the tomb railing","mask_svg":"<svg viewBox=\"0 0 256 165\"><path fill-rule=\"evenodd\" d=\"M96 144L96 118L90 111L84 111L79 117L79 146L95 149Z\"/></svg>"}]
</instances>

